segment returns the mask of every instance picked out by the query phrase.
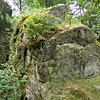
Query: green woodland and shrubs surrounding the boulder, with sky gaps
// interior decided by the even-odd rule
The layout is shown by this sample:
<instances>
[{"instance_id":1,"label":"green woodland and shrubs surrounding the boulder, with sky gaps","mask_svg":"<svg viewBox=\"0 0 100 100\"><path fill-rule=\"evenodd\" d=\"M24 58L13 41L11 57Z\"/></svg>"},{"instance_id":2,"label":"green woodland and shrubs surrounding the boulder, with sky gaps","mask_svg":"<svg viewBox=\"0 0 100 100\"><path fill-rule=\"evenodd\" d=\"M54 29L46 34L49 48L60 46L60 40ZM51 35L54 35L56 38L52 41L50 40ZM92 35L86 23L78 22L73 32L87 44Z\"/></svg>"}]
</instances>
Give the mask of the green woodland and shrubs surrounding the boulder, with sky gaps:
<instances>
[{"instance_id":1,"label":"green woodland and shrubs surrounding the boulder, with sky gaps","mask_svg":"<svg viewBox=\"0 0 100 100\"><path fill-rule=\"evenodd\" d=\"M10 55L13 51L10 50L9 44L14 27L21 16L57 4L65 4L66 23L70 26L72 23L85 24L100 35L100 0L12 0L17 9L12 9L9 1L0 0L0 97L3 98L0 100L18 100L17 98L21 97L18 88L21 82L26 82L27 79L27 76L24 76L19 80L19 75L10 63L11 60L17 60L16 55Z\"/></svg>"}]
</instances>

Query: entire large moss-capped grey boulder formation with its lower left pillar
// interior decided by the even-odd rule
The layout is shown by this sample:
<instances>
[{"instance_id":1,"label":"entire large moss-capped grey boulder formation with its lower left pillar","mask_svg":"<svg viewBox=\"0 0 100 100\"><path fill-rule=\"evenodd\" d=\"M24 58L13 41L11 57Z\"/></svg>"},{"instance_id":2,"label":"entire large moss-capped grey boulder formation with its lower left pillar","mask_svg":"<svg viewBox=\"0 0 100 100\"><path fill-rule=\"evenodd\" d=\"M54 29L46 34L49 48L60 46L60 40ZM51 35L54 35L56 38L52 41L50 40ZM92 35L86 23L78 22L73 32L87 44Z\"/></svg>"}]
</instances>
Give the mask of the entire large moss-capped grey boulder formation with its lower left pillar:
<instances>
[{"instance_id":1,"label":"entire large moss-capped grey boulder formation with its lower left pillar","mask_svg":"<svg viewBox=\"0 0 100 100\"><path fill-rule=\"evenodd\" d=\"M16 25L11 49L21 61L22 69L18 71L28 75L27 100L45 100L44 84L49 78L90 77L100 73L97 35L85 25L59 31L65 11L65 5L54 6L27 14ZM19 65L14 64L17 69Z\"/></svg>"}]
</instances>

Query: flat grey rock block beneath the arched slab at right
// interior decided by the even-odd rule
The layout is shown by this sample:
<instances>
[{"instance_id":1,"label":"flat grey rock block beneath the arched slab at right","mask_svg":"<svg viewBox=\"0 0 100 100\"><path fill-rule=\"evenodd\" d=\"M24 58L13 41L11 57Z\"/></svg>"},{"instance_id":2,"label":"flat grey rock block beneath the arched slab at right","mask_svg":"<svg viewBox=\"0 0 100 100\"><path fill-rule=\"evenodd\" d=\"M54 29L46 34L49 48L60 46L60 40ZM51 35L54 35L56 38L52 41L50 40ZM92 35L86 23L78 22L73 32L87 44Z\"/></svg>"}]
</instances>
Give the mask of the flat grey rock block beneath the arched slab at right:
<instances>
[{"instance_id":1,"label":"flat grey rock block beneath the arched slab at right","mask_svg":"<svg viewBox=\"0 0 100 100\"><path fill-rule=\"evenodd\" d=\"M100 73L98 53L99 47L95 44L86 47L76 43L57 45L53 60L44 62L44 65L49 66L50 77L95 76Z\"/></svg>"}]
</instances>

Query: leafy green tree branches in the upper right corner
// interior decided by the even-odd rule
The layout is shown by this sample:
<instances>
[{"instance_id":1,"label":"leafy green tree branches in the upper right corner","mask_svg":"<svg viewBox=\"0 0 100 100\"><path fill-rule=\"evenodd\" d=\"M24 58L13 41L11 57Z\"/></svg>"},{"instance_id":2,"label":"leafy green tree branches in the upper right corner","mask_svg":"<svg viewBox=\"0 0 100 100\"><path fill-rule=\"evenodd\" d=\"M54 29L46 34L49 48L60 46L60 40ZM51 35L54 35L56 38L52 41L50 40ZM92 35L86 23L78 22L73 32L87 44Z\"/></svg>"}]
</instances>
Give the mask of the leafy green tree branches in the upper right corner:
<instances>
[{"instance_id":1,"label":"leafy green tree branches in the upper right corner","mask_svg":"<svg viewBox=\"0 0 100 100\"><path fill-rule=\"evenodd\" d=\"M80 7L80 20L83 24L89 26L97 34L100 33L100 1L99 0L78 0Z\"/></svg>"}]
</instances>

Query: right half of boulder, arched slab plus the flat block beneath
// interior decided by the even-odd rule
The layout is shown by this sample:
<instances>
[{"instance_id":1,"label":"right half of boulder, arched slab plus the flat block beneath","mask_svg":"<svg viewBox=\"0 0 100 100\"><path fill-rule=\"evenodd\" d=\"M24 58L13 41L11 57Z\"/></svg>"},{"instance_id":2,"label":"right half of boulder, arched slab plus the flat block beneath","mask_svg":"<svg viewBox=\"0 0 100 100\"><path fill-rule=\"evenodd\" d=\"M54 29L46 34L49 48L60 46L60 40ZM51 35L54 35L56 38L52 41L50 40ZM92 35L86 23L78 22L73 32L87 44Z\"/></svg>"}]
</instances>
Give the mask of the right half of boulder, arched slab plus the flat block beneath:
<instances>
[{"instance_id":1,"label":"right half of boulder, arched slab plus the flat block beneath","mask_svg":"<svg viewBox=\"0 0 100 100\"><path fill-rule=\"evenodd\" d=\"M50 39L47 56L42 59L50 77L98 75L100 73L98 56L100 47L93 42L96 38L96 34L90 29L79 25Z\"/></svg>"}]
</instances>

